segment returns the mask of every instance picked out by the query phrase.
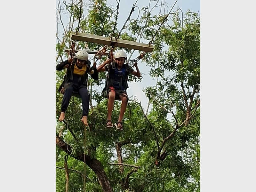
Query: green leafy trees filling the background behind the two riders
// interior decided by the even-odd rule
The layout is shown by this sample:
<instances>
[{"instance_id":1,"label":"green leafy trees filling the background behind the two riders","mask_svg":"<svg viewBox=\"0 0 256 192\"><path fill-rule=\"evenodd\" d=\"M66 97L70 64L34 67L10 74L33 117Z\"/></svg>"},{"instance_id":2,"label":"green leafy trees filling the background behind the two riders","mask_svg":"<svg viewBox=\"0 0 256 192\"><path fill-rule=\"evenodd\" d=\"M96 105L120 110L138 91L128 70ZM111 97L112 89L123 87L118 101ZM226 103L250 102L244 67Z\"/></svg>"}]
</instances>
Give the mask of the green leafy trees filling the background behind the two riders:
<instances>
[{"instance_id":1,"label":"green leafy trees filling the background behind the two riders","mask_svg":"<svg viewBox=\"0 0 256 192\"><path fill-rule=\"evenodd\" d=\"M167 21L159 28L167 14L152 15L152 9L158 6L158 2L154 3L151 0L141 8L141 17L131 20L120 33L120 38L137 42L150 41L155 35L154 51L142 58L151 68L151 77L156 78L156 85L143 90L148 108L144 109L139 100L130 97L124 132L106 130L107 100L101 97L100 89L106 74L100 73L98 82L90 79L90 126L85 130L80 122L78 98L71 101L65 123L57 123L56 191L82 191L85 181L86 191L200 190L200 18L189 10L184 16L178 9L171 14L172 25ZM81 32L101 36L119 34L121 30L117 28L113 33L115 7L104 0L91 0L83 7L88 8L88 13L80 19ZM62 12L69 18L66 26ZM68 56L64 49L71 47L69 33L76 30L79 13L78 1L68 6L59 1L56 62ZM61 35L60 27L64 29ZM102 45L76 42L76 49L85 46L95 51L102 48ZM126 49L126 52L133 54L133 50ZM105 59L103 56L101 60ZM56 72L56 119L63 97L57 89L63 76L64 72ZM120 102L115 101L113 119L118 118L119 109Z\"/></svg>"}]
</instances>

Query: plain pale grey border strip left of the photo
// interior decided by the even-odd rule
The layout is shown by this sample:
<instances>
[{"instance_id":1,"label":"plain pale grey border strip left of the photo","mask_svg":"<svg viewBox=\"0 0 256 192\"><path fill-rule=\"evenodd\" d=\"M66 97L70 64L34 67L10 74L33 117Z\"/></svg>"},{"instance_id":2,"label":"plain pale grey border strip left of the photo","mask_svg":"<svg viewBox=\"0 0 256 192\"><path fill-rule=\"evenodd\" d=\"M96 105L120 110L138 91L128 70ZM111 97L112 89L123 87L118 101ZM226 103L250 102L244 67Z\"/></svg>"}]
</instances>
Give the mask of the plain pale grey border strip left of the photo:
<instances>
[{"instance_id":1,"label":"plain pale grey border strip left of the photo","mask_svg":"<svg viewBox=\"0 0 256 192\"><path fill-rule=\"evenodd\" d=\"M1 2L1 191L56 191L56 2Z\"/></svg>"}]
</instances>

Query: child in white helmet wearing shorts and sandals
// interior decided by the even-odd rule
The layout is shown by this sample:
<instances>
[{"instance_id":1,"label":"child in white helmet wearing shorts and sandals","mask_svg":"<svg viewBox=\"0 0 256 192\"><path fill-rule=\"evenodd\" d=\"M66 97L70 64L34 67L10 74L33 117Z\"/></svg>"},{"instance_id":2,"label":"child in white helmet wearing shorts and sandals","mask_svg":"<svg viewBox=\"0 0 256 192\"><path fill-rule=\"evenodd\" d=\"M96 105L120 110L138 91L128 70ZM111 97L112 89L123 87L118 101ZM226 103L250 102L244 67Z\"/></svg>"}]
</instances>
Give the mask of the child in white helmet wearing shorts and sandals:
<instances>
[{"instance_id":1,"label":"child in white helmet wearing shorts and sandals","mask_svg":"<svg viewBox=\"0 0 256 192\"><path fill-rule=\"evenodd\" d=\"M127 101L129 99L126 92L127 88L129 88L127 84L127 76L132 74L134 76L140 77L141 75L137 63L134 64L136 71L131 69L128 64L125 64L125 61L127 60L127 55L125 52L117 52L114 58L116 62L112 62L111 59L108 59L104 61L100 66L98 66L97 70L98 72L108 71L108 79L104 88L108 94L108 119L106 128L113 127L111 115L114 106L114 100L122 100L119 118L115 123L115 126L118 130L123 131L122 120L126 110Z\"/></svg>"}]
</instances>

